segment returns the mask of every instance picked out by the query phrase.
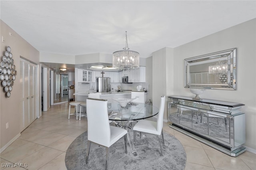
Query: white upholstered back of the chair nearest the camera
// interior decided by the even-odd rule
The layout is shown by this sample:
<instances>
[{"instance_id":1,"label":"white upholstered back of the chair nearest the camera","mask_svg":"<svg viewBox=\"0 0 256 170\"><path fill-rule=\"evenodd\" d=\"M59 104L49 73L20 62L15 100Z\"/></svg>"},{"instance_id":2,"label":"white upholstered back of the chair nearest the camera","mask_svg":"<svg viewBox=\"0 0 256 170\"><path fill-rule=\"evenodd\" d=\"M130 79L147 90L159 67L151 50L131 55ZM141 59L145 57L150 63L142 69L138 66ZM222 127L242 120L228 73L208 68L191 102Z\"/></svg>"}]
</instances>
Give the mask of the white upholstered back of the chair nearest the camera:
<instances>
[{"instance_id":1,"label":"white upholstered back of the chair nearest the camera","mask_svg":"<svg viewBox=\"0 0 256 170\"><path fill-rule=\"evenodd\" d=\"M88 119L88 140L110 146L110 125L108 121L108 101L86 99Z\"/></svg>"}]
</instances>

